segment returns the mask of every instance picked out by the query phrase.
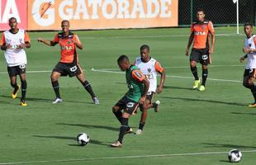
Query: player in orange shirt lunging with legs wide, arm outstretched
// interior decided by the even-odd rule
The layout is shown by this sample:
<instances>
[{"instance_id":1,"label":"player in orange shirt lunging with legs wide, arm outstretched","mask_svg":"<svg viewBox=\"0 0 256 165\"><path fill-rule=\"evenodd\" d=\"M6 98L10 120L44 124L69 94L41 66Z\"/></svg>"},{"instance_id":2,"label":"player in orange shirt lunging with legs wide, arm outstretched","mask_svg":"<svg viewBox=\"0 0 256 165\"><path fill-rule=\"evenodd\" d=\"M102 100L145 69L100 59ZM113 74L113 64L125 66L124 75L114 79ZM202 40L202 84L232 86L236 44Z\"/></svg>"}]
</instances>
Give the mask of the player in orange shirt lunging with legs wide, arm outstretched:
<instances>
[{"instance_id":1,"label":"player in orange shirt lunging with legs wide, arm outstretched","mask_svg":"<svg viewBox=\"0 0 256 165\"><path fill-rule=\"evenodd\" d=\"M61 58L58 64L56 64L53 72L51 73L51 82L55 90L55 101L53 104L62 102L62 99L59 94L59 82L58 79L60 76L73 77L76 76L78 80L82 83L83 87L91 95L92 101L95 104L99 104L97 97L92 91L90 83L86 80L83 70L78 64L78 53L79 50L83 50L83 45L78 39L78 35L73 34L69 31L69 21L61 21L62 32L59 32L55 35L54 40L45 40L39 38L38 41L44 43L45 45L55 46L59 44Z\"/></svg>"}]
</instances>

